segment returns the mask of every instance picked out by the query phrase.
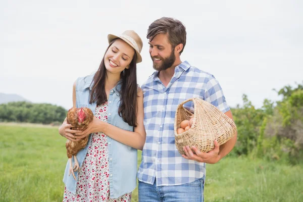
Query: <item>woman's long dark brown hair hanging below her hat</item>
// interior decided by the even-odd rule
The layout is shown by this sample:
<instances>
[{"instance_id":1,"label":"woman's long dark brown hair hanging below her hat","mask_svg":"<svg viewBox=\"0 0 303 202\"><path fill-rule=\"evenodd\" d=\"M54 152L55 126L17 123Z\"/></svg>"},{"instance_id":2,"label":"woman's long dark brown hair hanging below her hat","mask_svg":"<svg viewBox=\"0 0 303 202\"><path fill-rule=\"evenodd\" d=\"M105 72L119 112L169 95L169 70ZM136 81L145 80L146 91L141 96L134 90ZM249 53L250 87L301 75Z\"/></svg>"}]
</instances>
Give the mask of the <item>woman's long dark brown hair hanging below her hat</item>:
<instances>
[{"instance_id":1,"label":"woman's long dark brown hair hanging below her hat","mask_svg":"<svg viewBox=\"0 0 303 202\"><path fill-rule=\"evenodd\" d=\"M106 49L99 69L93 77L93 86L90 92L89 104L96 102L97 105L102 105L107 102L107 95L105 92L105 80L107 75L104 58L109 47L114 43L114 41L115 40L113 40ZM118 89L120 94L118 114L123 118L123 121L134 127L137 126L136 114L138 85L136 60L137 55L135 53L131 63L129 64L129 68L121 72L121 79L118 82L118 84L121 84L121 89Z\"/></svg>"}]
</instances>

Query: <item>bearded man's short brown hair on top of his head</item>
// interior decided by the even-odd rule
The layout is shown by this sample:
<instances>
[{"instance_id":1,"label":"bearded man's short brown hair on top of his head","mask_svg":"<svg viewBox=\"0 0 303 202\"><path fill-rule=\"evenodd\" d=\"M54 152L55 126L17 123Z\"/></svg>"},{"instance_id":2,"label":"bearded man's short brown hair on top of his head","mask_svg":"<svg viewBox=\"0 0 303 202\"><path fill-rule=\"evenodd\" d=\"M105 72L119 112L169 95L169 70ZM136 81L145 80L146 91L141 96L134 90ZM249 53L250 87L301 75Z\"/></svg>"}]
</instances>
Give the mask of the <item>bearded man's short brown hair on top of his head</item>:
<instances>
[{"instance_id":1,"label":"bearded man's short brown hair on top of his head","mask_svg":"<svg viewBox=\"0 0 303 202\"><path fill-rule=\"evenodd\" d=\"M152 41L159 33L168 34L168 41L172 48L182 43L181 55L186 44L186 28L184 24L174 18L162 17L149 25L146 38Z\"/></svg>"}]
</instances>

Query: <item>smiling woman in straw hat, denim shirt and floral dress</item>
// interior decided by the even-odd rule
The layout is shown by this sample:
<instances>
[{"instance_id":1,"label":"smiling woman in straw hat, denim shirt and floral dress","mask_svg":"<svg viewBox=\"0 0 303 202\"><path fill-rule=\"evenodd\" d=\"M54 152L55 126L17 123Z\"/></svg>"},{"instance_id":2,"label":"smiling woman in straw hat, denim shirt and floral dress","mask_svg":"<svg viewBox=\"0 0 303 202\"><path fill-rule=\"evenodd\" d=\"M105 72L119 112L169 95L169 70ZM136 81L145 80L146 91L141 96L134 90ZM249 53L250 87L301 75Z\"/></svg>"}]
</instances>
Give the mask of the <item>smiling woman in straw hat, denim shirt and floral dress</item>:
<instances>
[{"instance_id":1,"label":"smiling woman in straw hat, denim shirt and floral dress","mask_svg":"<svg viewBox=\"0 0 303 202\"><path fill-rule=\"evenodd\" d=\"M137 149L142 150L146 135L143 93L136 79L142 40L132 30L109 34L108 40L98 71L73 86L73 106L90 108L93 121L84 131L71 130L66 120L59 128L72 141L90 134L77 154L76 180L66 166L63 201L130 201L136 187Z\"/></svg>"}]
</instances>

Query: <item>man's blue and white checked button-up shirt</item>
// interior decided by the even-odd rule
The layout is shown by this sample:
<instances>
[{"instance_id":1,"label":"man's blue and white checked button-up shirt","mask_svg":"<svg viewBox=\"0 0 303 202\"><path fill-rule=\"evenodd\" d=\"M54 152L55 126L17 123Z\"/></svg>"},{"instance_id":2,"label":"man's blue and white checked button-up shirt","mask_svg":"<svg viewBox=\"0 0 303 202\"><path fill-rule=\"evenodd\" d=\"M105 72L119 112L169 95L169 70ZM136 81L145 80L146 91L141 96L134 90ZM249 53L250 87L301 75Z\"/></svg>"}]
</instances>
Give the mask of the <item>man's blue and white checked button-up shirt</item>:
<instances>
[{"instance_id":1,"label":"man's blue and white checked button-up shirt","mask_svg":"<svg viewBox=\"0 0 303 202\"><path fill-rule=\"evenodd\" d=\"M199 97L223 113L229 111L219 82L212 74L183 62L165 87L158 71L142 85L144 94L144 126L146 141L138 180L157 186L180 185L195 181L206 174L205 163L183 158L175 146L174 119L178 104ZM192 102L185 108L193 112Z\"/></svg>"}]
</instances>

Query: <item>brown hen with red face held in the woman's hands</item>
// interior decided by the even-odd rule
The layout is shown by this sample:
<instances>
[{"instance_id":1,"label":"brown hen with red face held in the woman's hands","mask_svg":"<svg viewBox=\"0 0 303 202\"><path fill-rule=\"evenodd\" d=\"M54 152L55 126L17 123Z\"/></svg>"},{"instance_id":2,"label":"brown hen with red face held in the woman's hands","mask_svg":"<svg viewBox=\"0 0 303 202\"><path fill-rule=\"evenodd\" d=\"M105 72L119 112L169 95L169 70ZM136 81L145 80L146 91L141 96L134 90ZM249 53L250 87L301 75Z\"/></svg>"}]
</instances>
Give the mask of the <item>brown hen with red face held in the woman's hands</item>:
<instances>
[{"instance_id":1,"label":"brown hen with red face held in the woman's hands","mask_svg":"<svg viewBox=\"0 0 303 202\"><path fill-rule=\"evenodd\" d=\"M67 113L66 121L68 124L71 124L74 126L74 128L71 128L72 130L82 130L84 131L88 124L93 120L93 113L89 108L71 108ZM74 178L76 179L76 176L74 172L79 170L79 163L76 158L76 155L79 150L84 148L88 141L88 135L83 137L82 139L78 141L71 141L67 139L65 146L66 146L66 154L69 158L70 162L70 169L69 169L69 176L72 173ZM72 157L74 157L75 166L73 168L72 164Z\"/></svg>"}]
</instances>

